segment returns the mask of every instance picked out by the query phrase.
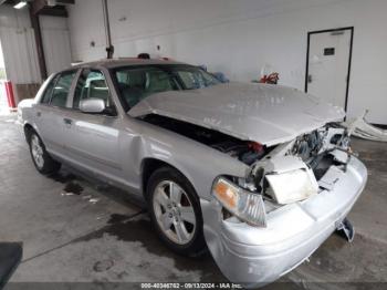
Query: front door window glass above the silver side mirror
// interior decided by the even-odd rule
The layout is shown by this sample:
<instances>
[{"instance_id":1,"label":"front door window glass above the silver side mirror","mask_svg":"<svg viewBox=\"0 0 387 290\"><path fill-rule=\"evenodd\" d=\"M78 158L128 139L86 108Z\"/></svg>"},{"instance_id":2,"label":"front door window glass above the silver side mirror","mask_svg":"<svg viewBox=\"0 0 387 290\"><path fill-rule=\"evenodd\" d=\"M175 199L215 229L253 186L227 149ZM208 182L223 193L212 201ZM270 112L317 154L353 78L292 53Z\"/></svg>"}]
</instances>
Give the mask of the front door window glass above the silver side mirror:
<instances>
[{"instance_id":1,"label":"front door window glass above the silver side mirror","mask_svg":"<svg viewBox=\"0 0 387 290\"><path fill-rule=\"evenodd\" d=\"M80 108L80 102L87 99L101 99L107 108L114 107L105 76L101 71L82 71L74 92L73 108Z\"/></svg>"}]
</instances>

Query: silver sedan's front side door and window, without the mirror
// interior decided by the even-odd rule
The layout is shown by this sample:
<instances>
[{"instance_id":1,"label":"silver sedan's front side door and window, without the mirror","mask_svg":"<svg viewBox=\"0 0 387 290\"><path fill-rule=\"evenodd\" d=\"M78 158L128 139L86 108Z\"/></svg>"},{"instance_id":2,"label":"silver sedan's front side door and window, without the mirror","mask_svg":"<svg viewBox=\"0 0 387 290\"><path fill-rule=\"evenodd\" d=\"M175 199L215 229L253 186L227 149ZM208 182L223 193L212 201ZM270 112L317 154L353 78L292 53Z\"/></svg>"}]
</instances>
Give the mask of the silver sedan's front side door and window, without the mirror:
<instances>
[{"instance_id":1,"label":"silver sedan's front side door and window, without the mirror","mask_svg":"<svg viewBox=\"0 0 387 290\"><path fill-rule=\"evenodd\" d=\"M86 99L101 99L108 110L101 114L83 113L80 102ZM64 135L71 162L108 179L119 179L123 176L118 130L121 121L102 71L85 69L81 72L69 120Z\"/></svg>"}]
</instances>

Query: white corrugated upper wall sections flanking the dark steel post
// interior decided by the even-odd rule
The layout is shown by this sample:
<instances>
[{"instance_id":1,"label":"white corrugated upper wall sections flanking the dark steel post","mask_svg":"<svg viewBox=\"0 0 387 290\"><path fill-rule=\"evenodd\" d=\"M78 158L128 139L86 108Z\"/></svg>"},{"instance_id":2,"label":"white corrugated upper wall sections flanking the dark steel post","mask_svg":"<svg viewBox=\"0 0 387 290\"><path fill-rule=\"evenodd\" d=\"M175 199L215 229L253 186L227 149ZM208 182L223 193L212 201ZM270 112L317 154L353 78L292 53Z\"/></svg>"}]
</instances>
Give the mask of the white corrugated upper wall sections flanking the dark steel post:
<instances>
[{"instance_id":1,"label":"white corrugated upper wall sections flanking the dark steel post","mask_svg":"<svg viewBox=\"0 0 387 290\"><path fill-rule=\"evenodd\" d=\"M40 17L40 22L48 73L69 68L67 19ZM0 41L7 77L14 84L40 83L42 77L28 8L17 10L12 6L0 6Z\"/></svg>"}]
</instances>

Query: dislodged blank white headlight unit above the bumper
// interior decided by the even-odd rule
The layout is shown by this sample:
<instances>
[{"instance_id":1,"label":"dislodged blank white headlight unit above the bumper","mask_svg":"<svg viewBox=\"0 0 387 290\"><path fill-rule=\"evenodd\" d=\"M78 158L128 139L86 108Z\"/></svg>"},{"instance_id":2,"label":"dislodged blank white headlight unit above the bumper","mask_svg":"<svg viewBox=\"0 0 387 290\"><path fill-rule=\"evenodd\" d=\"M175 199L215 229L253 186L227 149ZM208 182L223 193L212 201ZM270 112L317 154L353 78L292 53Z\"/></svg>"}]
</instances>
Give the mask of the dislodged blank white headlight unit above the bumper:
<instances>
[{"instance_id":1,"label":"dislodged blank white headlight unit above the bumper","mask_svg":"<svg viewBox=\"0 0 387 290\"><path fill-rule=\"evenodd\" d=\"M308 168L268 174L265 178L270 185L266 194L281 205L306 199L318 190L316 178Z\"/></svg>"}]
</instances>

